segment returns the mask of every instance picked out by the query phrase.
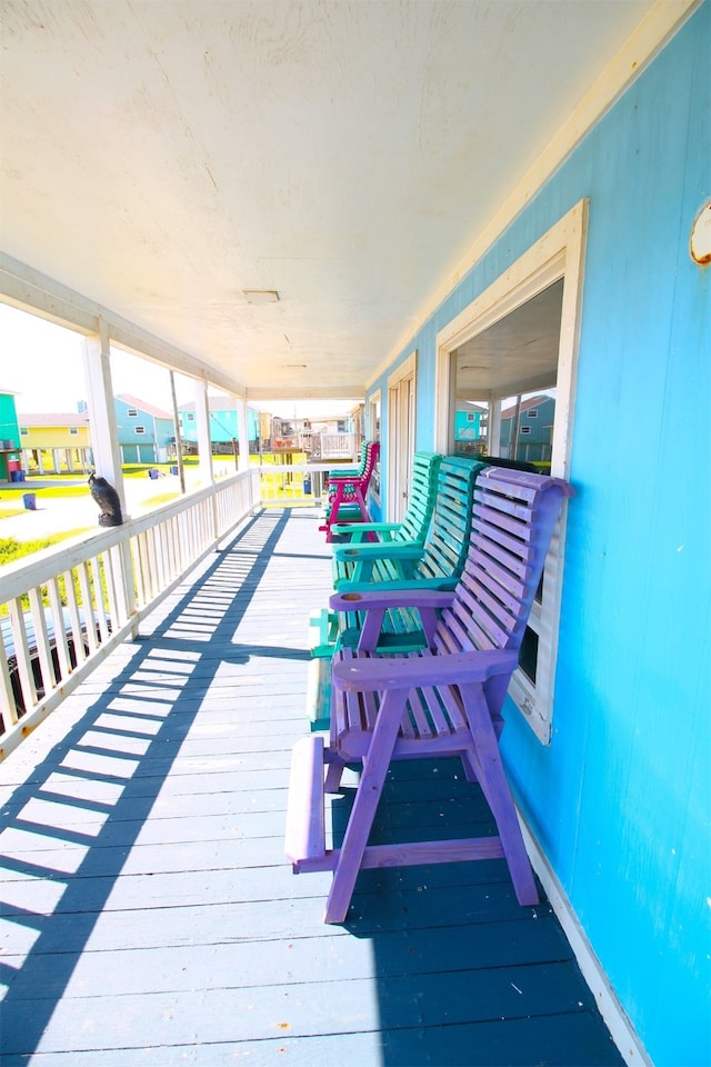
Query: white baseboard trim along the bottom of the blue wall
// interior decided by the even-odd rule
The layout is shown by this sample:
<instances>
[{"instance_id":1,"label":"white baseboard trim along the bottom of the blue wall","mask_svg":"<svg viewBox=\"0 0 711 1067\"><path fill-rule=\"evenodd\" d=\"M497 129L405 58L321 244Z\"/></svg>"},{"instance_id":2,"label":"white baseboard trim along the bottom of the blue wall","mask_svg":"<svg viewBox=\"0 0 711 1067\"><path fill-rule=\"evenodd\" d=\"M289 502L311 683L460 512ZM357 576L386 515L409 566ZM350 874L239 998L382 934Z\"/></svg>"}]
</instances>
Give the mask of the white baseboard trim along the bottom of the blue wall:
<instances>
[{"instance_id":1,"label":"white baseboard trim along the bottom of the blue wall","mask_svg":"<svg viewBox=\"0 0 711 1067\"><path fill-rule=\"evenodd\" d=\"M558 921L563 928L568 944L573 951L573 956L590 991L595 998L598 1010L604 1019L612 1040L620 1050L620 1055L629 1067L640 1067L640 1065L643 1065L643 1067L653 1067L652 1060L649 1058L634 1027L627 1017L624 1008L620 1004L610 984L610 979L604 973L602 964L593 951L592 945L588 940L585 931L580 925L563 887L520 811L519 821L531 866L540 879L543 891L548 897Z\"/></svg>"}]
</instances>

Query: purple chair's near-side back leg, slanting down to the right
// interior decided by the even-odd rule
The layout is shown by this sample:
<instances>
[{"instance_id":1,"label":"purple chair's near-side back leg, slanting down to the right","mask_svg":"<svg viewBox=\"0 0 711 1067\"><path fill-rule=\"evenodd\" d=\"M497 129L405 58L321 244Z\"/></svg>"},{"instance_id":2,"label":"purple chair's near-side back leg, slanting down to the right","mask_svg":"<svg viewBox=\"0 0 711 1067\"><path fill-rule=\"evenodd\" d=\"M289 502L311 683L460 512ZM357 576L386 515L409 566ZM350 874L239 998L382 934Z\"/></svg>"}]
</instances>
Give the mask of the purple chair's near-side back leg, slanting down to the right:
<instances>
[{"instance_id":1,"label":"purple chair's near-side back leg, slanting down to the right","mask_svg":"<svg viewBox=\"0 0 711 1067\"><path fill-rule=\"evenodd\" d=\"M471 760L471 768L497 821L517 900L520 905L538 904L538 889L503 770L489 707L479 687L462 686L461 692L473 739L473 750L467 752L464 758Z\"/></svg>"}]
</instances>

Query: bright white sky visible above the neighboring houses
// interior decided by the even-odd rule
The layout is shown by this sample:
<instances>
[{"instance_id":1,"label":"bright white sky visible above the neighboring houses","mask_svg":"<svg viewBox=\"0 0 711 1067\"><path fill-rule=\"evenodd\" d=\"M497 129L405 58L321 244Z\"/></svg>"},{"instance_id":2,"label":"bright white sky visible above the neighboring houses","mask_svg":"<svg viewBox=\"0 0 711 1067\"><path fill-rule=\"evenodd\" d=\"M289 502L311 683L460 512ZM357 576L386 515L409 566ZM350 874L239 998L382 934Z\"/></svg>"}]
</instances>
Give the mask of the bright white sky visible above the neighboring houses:
<instances>
[{"instance_id":1,"label":"bright white sky visible above the neighboring houses","mask_svg":"<svg viewBox=\"0 0 711 1067\"><path fill-rule=\"evenodd\" d=\"M116 396L129 393L172 411L166 368L112 349L111 378ZM174 378L178 403L194 400L193 379L180 373ZM16 393L20 415L77 411L79 401L87 399L82 336L0 303L0 391ZM353 407L333 400L297 405L272 400L250 406L286 419L338 416Z\"/></svg>"}]
</instances>

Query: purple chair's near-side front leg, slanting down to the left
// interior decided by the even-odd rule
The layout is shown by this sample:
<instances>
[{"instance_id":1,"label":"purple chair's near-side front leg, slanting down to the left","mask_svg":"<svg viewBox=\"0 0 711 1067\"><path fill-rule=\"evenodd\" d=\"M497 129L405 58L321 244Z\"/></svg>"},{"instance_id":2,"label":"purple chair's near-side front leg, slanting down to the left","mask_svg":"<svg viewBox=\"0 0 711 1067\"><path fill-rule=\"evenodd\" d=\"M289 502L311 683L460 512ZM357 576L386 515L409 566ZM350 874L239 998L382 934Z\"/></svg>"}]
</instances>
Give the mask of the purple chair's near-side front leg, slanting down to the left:
<instances>
[{"instance_id":1,"label":"purple chair's near-side front leg, slanting down to the left","mask_svg":"<svg viewBox=\"0 0 711 1067\"><path fill-rule=\"evenodd\" d=\"M380 706L378 721L368 755L363 759L363 769L356 790L356 799L333 870L333 881L323 916L326 923L342 923L348 913L398 739L405 699L405 691L390 690L383 697Z\"/></svg>"}]
</instances>

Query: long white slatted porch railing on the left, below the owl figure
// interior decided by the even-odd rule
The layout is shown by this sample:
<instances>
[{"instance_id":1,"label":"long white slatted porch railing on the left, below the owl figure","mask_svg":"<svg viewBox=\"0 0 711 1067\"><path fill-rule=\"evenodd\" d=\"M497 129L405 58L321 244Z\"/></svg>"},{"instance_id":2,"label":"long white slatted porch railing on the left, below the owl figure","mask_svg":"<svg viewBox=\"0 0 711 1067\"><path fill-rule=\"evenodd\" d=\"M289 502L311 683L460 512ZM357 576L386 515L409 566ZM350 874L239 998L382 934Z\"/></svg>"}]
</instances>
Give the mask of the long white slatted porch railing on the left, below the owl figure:
<instances>
[{"instance_id":1,"label":"long white slatted porch railing on the left, below the owl figure","mask_svg":"<svg viewBox=\"0 0 711 1067\"><path fill-rule=\"evenodd\" d=\"M260 501L250 468L0 569L0 759Z\"/></svg>"}]
</instances>

